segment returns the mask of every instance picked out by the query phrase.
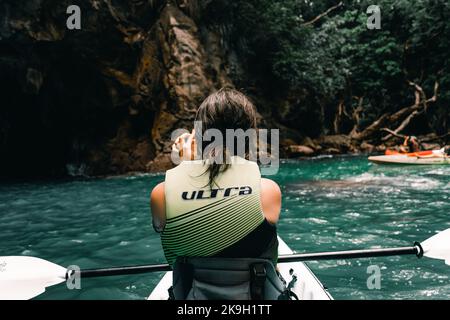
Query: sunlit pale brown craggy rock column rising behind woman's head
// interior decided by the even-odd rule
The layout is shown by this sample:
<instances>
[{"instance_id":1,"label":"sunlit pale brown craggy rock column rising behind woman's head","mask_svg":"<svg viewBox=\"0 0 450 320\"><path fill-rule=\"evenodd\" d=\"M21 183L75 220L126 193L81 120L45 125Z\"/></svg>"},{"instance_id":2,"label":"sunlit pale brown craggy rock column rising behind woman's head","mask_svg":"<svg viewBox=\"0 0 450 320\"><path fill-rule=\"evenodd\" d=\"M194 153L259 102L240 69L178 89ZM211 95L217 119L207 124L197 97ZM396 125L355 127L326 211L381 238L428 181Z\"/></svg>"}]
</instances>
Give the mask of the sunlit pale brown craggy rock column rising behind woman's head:
<instances>
[{"instance_id":1,"label":"sunlit pale brown craggy rock column rising behind woman's head","mask_svg":"<svg viewBox=\"0 0 450 320\"><path fill-rule=\"evenodd\" d=\"M198 106L217 87L224 85L215 82L213 74L207 70L210 56L198 32L195 22L174 5L165 7L156 25L161 62L166 71L162 83L168 98L168 103L160 105L152 128L158 152L170 151L169 138L174 129L192 129ZM231 85L226 76L222 75L222 79Z\"/></svg>"}]
</instances>

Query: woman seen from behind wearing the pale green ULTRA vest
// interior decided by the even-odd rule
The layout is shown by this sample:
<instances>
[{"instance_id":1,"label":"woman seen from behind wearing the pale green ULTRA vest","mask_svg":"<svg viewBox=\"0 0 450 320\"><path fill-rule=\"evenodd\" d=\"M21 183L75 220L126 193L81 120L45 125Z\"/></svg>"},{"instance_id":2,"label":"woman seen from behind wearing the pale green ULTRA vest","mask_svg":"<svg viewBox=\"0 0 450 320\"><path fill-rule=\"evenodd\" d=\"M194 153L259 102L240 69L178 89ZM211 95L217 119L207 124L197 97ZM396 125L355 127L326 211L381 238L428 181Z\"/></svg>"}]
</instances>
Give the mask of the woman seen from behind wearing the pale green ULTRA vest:
<instances>
[{"instance_id":1,"label":"woman seen from behind wearing the pale green ULTRA vest","mask_svg":"<svg viewBox=\"0 0 450 320\"><path fill-rule=\"evenodd\" d=\"M210 95L197 111L202 130L256 129L256 110L233 89ZM224 145L226 145L224 143ZM230 163L209 161L217 150L194 160L195 132L179 137L173 150L182 162L166 172L151 192L154 229L161 233L164 254L173 265L178 257L253 257L277 261L276 223L281 191L261 178L255 162L224 148Z\"/></svg>"}]
</instances>

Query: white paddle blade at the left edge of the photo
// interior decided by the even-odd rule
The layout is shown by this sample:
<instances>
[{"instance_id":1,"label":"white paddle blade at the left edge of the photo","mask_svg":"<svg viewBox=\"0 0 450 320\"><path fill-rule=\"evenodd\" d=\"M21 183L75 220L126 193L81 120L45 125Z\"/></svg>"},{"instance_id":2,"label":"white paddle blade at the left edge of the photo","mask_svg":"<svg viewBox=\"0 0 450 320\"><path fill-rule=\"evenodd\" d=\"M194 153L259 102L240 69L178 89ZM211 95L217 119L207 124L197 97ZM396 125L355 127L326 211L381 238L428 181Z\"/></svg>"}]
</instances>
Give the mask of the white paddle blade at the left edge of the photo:
<instances>
[{"instance_id":1,"label":"white paddle blade at the left edge of the photo","mask_svg":"<svg viewBox=\"0 0 450 320\"><path fill-rule=\"evenodd\" d=\"M0 257L0 300L28 300L65 281L66 269L25 256Z\"/></svg>"}]
</instances>

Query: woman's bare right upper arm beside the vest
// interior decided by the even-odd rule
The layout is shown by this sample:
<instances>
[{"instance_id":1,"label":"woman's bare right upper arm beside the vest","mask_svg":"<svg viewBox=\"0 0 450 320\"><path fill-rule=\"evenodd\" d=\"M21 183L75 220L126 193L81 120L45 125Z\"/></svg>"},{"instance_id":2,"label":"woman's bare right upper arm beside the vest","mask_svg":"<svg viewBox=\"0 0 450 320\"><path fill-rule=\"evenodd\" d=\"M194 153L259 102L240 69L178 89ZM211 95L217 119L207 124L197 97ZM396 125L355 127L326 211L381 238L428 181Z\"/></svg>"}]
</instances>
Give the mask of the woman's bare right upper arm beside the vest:
<instances>
[{"instance_id":1,"label":"woman's bare right upper arm beside the vest","mask_svg":"<svg viewBox=\"0 0 450 320\"><path fill-rule=\"evenodd\" d=\"M275 181L261 179L261 205L267 221L276 224L281 212L281 190Z\"/></svg>"}]
</instances>

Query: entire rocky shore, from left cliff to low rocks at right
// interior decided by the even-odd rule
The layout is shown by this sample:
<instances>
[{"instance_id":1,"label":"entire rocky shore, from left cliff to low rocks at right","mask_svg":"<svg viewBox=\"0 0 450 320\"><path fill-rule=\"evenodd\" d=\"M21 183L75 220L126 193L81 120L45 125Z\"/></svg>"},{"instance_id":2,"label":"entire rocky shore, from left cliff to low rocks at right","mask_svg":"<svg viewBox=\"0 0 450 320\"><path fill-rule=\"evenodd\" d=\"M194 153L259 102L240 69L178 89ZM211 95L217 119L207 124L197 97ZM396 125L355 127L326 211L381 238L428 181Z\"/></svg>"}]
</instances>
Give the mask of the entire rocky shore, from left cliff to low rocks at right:
<instances>
[{"instance_id":1,"label":"entire rocky shore, from left cliff to low rocks at right","mask_svg":"<svg viewBox=\"0 0 450 320\"><path fill-rule=\"evenodd\" d=\"M254 100L260 125L280 129L281 155L291 157L383 152L403 141L381 139L384 126L437 100L438 82L423 106L416 99L360 128L362 98L348 114L343 101L335 108L333 97L277 84L264 60L242 56L251 48L221 18L224 3L1 1L0 178L167 169L172 131L191 129L202 100L224 86ZM70 5L81 9L80 30L66 25ZM436 148L449 137L422 142Z\"/></svg>"}]
</instances>

